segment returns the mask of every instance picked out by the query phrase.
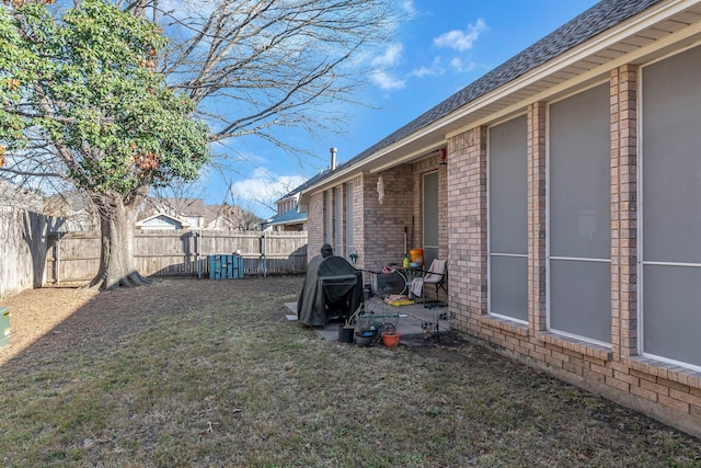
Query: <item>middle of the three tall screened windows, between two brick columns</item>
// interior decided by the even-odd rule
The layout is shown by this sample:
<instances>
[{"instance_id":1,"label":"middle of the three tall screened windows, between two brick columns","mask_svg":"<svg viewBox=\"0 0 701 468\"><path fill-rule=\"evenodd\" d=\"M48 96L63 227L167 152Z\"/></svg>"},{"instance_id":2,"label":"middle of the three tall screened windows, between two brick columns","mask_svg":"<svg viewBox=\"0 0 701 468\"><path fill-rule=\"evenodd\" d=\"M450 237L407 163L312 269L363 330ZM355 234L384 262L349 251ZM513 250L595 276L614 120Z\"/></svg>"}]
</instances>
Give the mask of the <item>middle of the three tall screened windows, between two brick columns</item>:
<instances>
[{"instance_id":1,"label":"middle of the three tall screened windows, between two brick columns","mask_svg":"<svg viewBox=\"0 0 701 468\"><path fill-rule=\"evenodd\" d=\"M611 342L608 83L550 106L549 324Z\"/></svg>"}]
</instances>

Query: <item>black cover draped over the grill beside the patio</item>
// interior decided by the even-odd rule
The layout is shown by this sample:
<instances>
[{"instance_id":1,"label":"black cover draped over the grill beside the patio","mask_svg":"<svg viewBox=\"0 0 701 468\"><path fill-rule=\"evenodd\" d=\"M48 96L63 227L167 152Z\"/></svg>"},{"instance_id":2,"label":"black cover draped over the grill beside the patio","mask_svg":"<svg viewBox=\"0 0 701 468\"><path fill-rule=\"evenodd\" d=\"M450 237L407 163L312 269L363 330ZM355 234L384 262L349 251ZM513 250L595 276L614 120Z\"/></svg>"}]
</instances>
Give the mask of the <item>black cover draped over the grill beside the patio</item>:
<instances>
[{"instance_id":1,"label":"black cover draped over the grill beside the patio","mask_svg":"<svg viewBox=\"0 0 701 468\"><path fill-rule=\"evenodd\" d=\"M342 256L317 255L309 261L297 300L297 318L310 327L348 318L363 303L363 272Z\"/></svg>"}]
</instances>

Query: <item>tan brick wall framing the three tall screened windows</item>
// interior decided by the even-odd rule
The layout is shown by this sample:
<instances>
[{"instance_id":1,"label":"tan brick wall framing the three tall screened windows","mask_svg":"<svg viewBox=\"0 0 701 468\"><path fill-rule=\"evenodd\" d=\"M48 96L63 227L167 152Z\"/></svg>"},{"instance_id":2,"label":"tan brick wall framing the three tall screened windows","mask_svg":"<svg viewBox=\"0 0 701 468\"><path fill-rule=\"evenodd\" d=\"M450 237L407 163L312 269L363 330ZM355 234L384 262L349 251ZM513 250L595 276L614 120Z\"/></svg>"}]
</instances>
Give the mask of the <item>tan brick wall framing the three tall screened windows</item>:
<instances>
[{"instance_id":1,"label":"tan brick wall framing the three tall screened windows","mask_svg":"<svg viewBox=\"0 0 701 468\"><path fill-rule=\"evenodd\" d=\"M701 434L701 373L637 353L637 69L610 73L611 346L547 330L547 103L528 106L528 324L487 311L486 129L448 140L451 328L530 366ZM652 403L652 404L651 404Z\"/></svg>"}]
</instances>

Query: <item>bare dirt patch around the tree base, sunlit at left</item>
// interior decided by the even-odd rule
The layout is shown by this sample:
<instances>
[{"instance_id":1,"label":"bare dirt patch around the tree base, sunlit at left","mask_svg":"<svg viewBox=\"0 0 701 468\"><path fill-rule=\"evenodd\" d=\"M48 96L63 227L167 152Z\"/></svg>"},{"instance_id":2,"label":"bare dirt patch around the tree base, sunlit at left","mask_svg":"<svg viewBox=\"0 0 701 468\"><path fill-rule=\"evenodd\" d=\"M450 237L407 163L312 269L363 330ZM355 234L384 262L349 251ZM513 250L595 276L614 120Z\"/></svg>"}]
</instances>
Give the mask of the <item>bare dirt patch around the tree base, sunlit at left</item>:
<instances>
[{"instance_id":1,"label":"bare dirt patch around the tree base, sunlit at left","mask_svg":"<svg viewBox=\"0 0 701 468\"><path fill-rule=\"evenodd\" d=\"M285 278L287 290L296 290L297 276ZM135 316L141 312L168 313L175 309L198 310L208 298L221 297L228 288L220 282L192 278L156 279L148 287L96 293L84 287L45 287L27 289L0 300L10 309L10 346L0 347L0 365L19 352L42 353L47 346L60 352L65 346L99 334L102 341L118 342L139 330ZM237 283L239 293L251 295L267 290L269 284L250 278ZM99 300L96 300L99 299ZM76 312L79 319L68 320ZM39 340L42 339L42 340ZM31 345L36 343L38 350Z\"/></svg>"}]
</instances>

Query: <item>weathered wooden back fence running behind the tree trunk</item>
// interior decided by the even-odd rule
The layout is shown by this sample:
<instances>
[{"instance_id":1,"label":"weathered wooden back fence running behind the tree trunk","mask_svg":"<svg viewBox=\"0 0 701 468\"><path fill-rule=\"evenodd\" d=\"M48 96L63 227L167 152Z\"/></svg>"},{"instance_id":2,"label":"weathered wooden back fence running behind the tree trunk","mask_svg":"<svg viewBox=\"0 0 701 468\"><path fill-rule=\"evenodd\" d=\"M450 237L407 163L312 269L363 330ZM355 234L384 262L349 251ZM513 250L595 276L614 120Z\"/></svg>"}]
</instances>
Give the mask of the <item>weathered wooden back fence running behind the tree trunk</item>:
<instances>
[{"instance_id":1,"label":"weathered wooden back fence running behind the tree trunk","mask_svg":"<svg viewBox=\"0 0 701 468\"><path fill-rule=\"evenodd\" d=\"M307 232L138 231L134 252L146 276L207 278L209 255L235 252L245 275L295 274L307 271ZM92 279L100 267L100 232L50 236L46 262L47 283Z\"/></svg>"}]
</instances>

